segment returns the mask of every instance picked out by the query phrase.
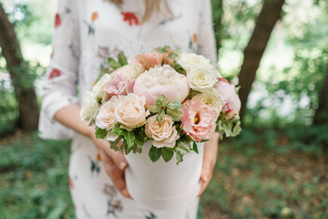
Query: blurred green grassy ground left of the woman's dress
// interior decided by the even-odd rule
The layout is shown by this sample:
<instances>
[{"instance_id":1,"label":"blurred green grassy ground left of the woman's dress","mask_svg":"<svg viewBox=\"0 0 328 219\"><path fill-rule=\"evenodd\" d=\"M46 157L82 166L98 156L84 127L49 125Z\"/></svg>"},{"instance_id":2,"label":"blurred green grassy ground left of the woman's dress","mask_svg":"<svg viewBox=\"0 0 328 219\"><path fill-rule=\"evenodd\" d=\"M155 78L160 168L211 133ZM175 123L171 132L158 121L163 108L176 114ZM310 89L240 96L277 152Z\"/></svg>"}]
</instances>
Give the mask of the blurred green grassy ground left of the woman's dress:
<instances>
[{"instance_id":1,"label":"blurred green grassy ground left of the woman's dress","mask_svg":"<svg viewBox=\"0 0 328 219\"><path fill-rule=\"evenodd\" d=\"M36 133L0 146L2 218L74 218L67 167L70 141L43 141Z\"/></svg>"}]
</instances>

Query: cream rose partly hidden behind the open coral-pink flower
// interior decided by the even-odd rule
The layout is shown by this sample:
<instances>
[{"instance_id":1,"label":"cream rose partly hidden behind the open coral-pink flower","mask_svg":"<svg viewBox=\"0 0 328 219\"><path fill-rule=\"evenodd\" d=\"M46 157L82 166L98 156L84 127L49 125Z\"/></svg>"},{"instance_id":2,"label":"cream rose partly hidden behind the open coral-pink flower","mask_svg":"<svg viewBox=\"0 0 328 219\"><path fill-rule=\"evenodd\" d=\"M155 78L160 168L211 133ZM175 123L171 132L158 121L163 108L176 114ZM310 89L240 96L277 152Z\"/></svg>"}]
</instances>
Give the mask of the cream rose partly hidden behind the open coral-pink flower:
<instances>
[{"instance_id":1,"label":"cream rose partly hidden behind the open coral-pink flower","mask_svg":"<svg viewBox=\"0 0 328 219\"><path fill-rule=\"evenodd\" d=\"M192 98L194 101L202 101L207 106L213 108L216 112L216 118L224 106L224 100L216 89L209 89Z\"/></svg>"}]
</instances>

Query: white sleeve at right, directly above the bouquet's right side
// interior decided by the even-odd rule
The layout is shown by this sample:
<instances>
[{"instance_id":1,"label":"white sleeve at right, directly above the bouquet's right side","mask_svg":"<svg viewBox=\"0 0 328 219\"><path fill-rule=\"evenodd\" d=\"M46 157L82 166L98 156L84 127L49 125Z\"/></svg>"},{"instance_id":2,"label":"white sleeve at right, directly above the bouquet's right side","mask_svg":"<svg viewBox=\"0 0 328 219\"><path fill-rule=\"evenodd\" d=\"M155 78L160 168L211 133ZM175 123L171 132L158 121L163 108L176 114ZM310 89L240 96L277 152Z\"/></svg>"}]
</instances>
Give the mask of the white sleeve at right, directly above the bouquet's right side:
<instances>
[{"instance_id":1,"label":"white sleeve at right, directly above the bouquet's right side","mask_svg":"<svg viewBox=\"0 0 328 219\"><path fill-rule=\"evenodd\" d=\"M198 31L197 53L210 59L210 64L217 66L217 50L213 30L210 0L200 0L200 23Z\"/></svg>"}]
</instances>

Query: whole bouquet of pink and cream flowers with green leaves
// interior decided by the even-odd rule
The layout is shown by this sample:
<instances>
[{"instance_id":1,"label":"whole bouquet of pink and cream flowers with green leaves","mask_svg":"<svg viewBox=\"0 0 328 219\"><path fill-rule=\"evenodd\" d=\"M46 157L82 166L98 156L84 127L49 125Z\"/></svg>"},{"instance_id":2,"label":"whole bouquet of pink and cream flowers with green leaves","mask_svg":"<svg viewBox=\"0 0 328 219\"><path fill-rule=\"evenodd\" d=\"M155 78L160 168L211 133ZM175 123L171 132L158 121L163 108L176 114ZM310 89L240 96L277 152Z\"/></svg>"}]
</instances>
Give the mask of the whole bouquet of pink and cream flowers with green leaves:
<instances>
[{"instance_id":1,"label":"whole bouquet of pink and cream flowers with green leaves","mask_svg":"<svg viewBox=\"0 0 328 219\"><path fill-rule=\"evenodd\" d=\"M121 52L118 60L108 57L80 116L116 151L141 152L151 141L152 162L176 153L179 163L215 131L220 139L240 133L236 90L200 55L160 47L128 60Z\"/></svg>"}]
</instances>

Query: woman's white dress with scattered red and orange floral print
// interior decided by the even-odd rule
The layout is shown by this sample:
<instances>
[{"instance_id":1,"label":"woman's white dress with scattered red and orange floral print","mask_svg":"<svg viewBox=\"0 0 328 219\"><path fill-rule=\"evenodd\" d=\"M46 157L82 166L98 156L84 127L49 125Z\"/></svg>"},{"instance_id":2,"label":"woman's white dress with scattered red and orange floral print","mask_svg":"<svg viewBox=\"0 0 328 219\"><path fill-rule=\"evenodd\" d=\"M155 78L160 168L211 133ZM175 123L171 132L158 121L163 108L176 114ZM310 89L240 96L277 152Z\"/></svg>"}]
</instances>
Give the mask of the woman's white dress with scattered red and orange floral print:
<instances>
[{"instance_id":1,"label":"woman's white dress with scattered red and orange floral print","mask_svg":"<svg viewBox=\"0 0 328 219\"><path fill-rule=\"evenodd\" d=\"M172 15L156 12L144 24L140 22L144 14L143 0L124 2L123 5L117 6L109 0L58 1L53 57L47 68L42 93L39 121L42 138L64 139L73 136L72 130L68 130L53 117L57 110L70 104L79 104L84 92L91 89L101 65L106 62L108 56L117 57L120 51L124 51L126 56L132 59L139 53L150 52L154 47L168 45L172 48L180 47L183 52L197 52L210 58L211 64L216 65L210 0L169 0ZM77 217L101 218L88 217L79 211L96 207L91 206L92 204L97 204L95 211L106 211L105 201L103 205L95 201L106 200L106 197L93 193L91 188L102 188L110 181L102 170L101 163L98 166L99 177L92 181L96 176L92 175L90 170L95 163L90 161L95 159L97 151L91 142L80 141L79 146L74 148L79 151L71 155L70 177L72 181L78 179L79 182L72 192ZM86 166L91 169L86 169ZM119 196L119 199L121 198ZM198 201L194 203L193 206L197 208ZM98 215L102 214L100 212ZM196 218L196 215L193 213L188 218Z\"/></svg>"}]
</instances>

